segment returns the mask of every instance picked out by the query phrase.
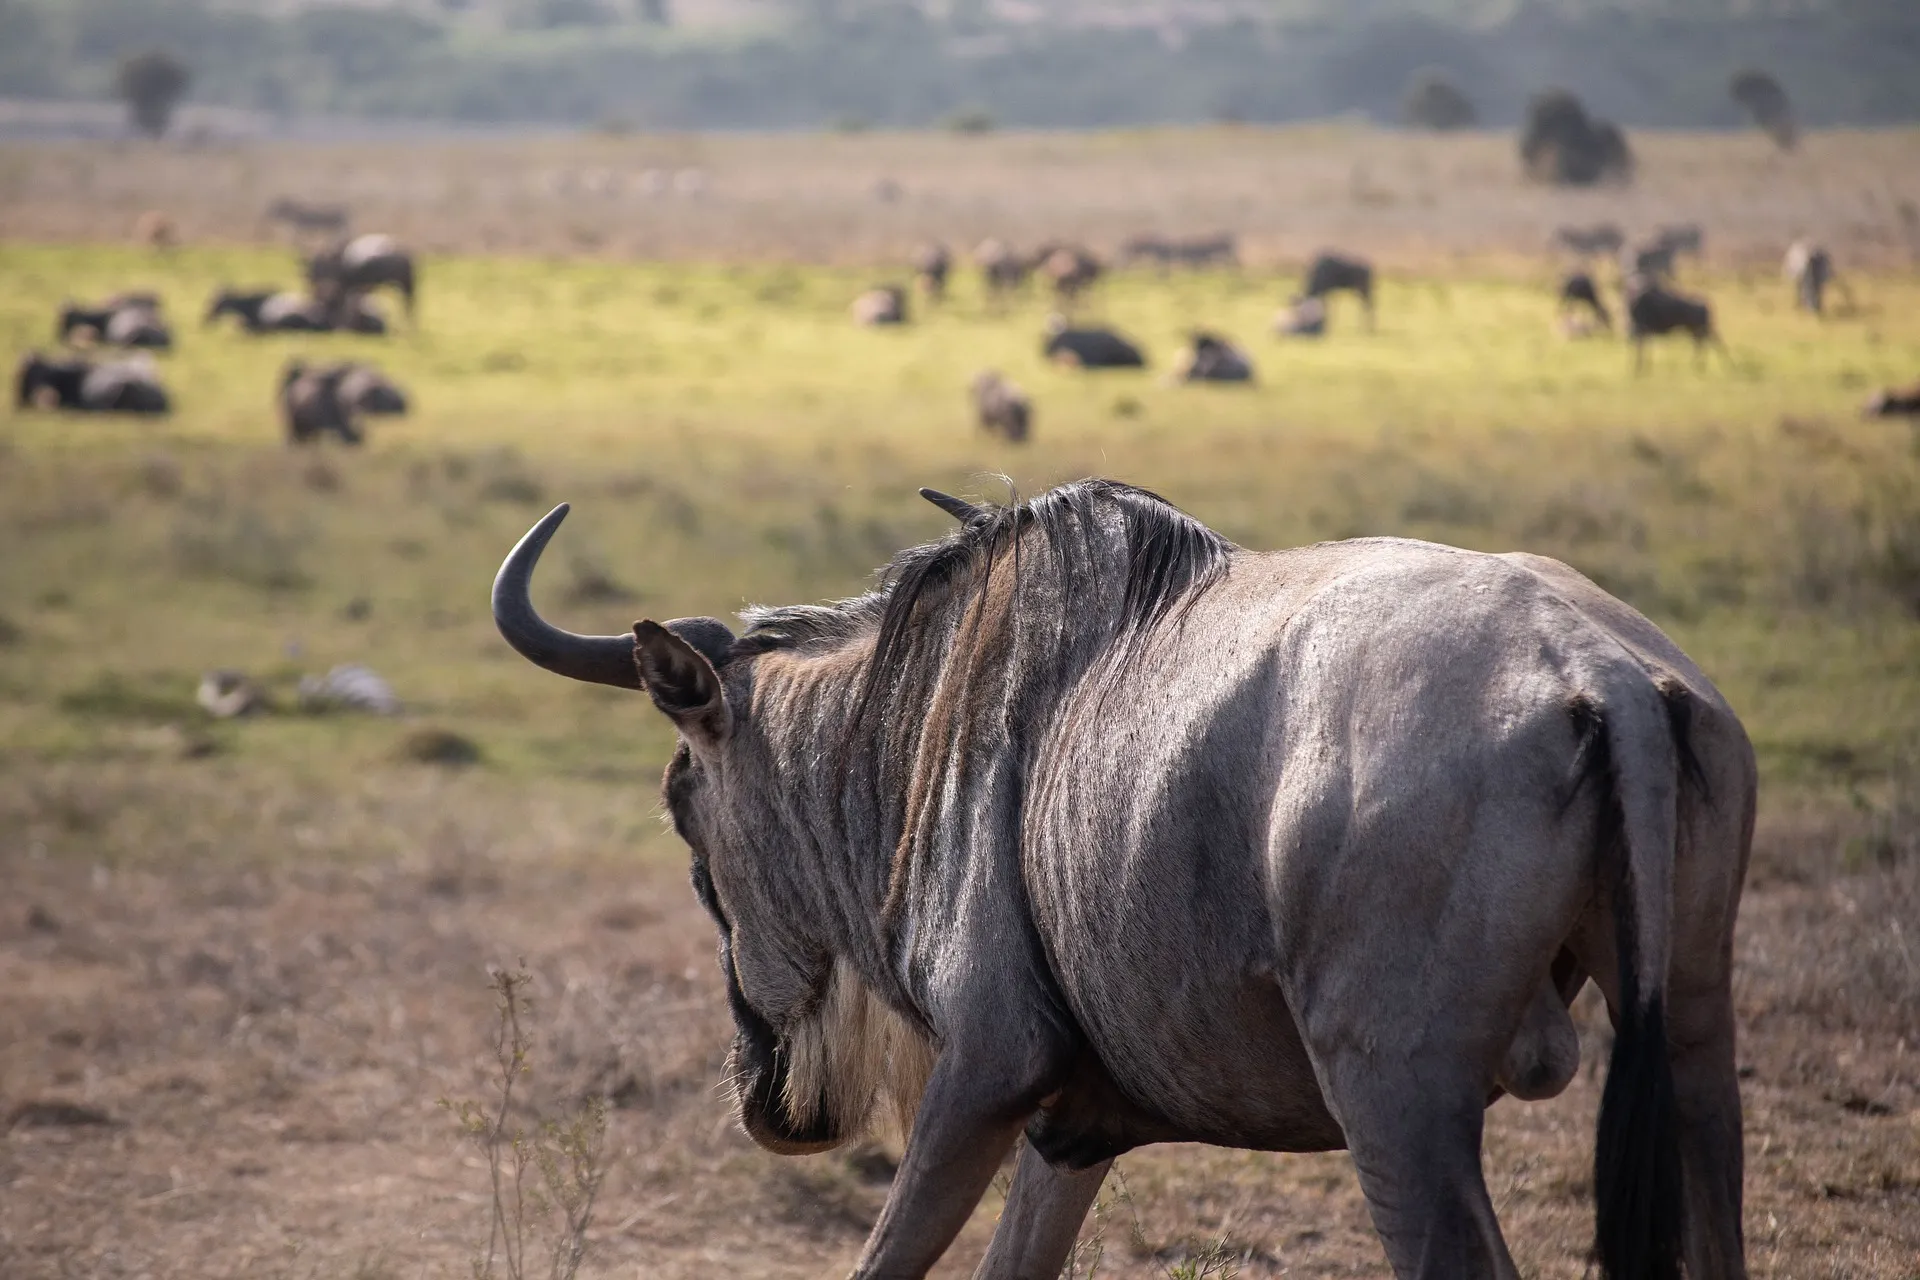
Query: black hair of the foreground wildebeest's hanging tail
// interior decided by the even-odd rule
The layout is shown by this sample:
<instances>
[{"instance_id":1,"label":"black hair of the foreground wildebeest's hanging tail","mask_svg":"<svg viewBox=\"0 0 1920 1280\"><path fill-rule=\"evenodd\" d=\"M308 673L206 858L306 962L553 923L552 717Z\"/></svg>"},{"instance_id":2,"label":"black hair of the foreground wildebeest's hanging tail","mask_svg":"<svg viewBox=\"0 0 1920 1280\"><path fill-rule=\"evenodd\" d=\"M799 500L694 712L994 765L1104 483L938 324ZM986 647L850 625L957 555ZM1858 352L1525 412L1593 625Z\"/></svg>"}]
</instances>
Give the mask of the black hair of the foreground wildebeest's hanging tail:
<instances>
[{"instance_id":1,"label":"black hair of the foreground wildebeest's hanging tail","mask_svg":"<svg viewBox=\"0 0 1920 1280\"><path fill-rule=\"evenodd\" d=\"M1692 760L1684 716L1668 716L1682 773ZM1594 714L1586 764L1599 781L1599 858L1611 873L1620 1002L1615 1009L1613 1057L1599 1100L1594 1144L1594 1253L1607 1280L1680 1280L1684 1197L1680 1186L1680 1117L1667 1057L1667 1011L1659 984L1642 1000L1640 921L1634 910L1632 860L1615 771L1613 745ZM1697 768L1697 766L1695 766Z\"/></svg>"}]
</instances>

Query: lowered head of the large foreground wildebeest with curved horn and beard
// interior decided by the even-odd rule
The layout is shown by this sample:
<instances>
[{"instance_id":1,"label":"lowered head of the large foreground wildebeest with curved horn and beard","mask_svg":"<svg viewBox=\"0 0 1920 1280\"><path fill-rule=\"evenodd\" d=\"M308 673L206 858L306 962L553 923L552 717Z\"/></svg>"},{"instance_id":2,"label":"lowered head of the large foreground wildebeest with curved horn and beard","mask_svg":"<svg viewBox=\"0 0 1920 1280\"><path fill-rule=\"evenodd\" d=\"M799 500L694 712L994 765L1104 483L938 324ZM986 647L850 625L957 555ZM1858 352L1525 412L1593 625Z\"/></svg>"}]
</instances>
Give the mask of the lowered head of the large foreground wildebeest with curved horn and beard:
<instances>
[{"instance_id":1,"label":"lowered head of the large foreground wildebeest with curved horn and beard","mask_svg":"<svg viewBox=\"0 0 1920 1280\"><path fill-rule=\"evenodd\" d=\"M716 618L636 622L632 635L574 635L541 620L528 583L566 510L557 507L509 553L493 581L493 620L536 666L645 691L678 731L662 789L720 936L741 1125L762 1148L806 1153L864 1132L881 1098L910 1117L931 1050L856 977L847 904L816 865L828 841L793 800L833 785L803 718L780 714L793 681L810 676L795 674L799 664L764 635L735 637ZM783 660L780 679L768 679L762 662Z\"/></svg>"}]
</instances>

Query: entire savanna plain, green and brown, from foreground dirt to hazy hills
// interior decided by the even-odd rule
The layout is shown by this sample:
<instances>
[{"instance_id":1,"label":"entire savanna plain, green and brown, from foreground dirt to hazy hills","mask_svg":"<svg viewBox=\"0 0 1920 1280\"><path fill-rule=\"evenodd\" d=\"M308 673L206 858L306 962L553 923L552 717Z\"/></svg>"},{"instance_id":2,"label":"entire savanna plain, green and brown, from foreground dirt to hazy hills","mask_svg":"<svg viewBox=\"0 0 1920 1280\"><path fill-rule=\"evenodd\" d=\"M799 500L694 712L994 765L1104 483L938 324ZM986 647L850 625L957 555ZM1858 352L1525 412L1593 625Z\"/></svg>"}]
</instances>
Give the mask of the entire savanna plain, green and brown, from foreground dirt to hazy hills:
<instances>
[{"instance_id":1,"label":"entire savanna plain, green and brown, from foreground dirt to hazy hills","mask_svg":"<svg viewBox=\"0 0 1920 1280\"><path fill-rule=\"evenodd\" d=\"M1634 188L1574 196L1523 186L1503 138L1363 130L0 150L0 349L129 288L179 330L165 420L0 418L0 1274L468 1274L490 1169L442 1103L497 1102L490 969L528 975L515 1123L564 1134L605 1105L582 1274L845 1274L899 1136L780 1159L735 1130L712 935L660 823L670 737L643 699L511 654L488 583L570 501L536 599L574 629L843 597L945 532L918 486L1102 474L1248 547L1553 555L1667 628L1763 771L1736 961L1751 1267L1920 1276L1920 436L1859 413L1920 376L1920 136L1642 155ZM580 178L641 165L699 165L699 201ZM430 249L419 324L200 328L221 284L294 284L255 211L324 194L315 175ZM129 246L144 207L186 242ZM1622 342L1555 330L1546 234L1597 217L1705 225L1682 282L1726 359L1657 345L1634 374ZM920 234L1050 226L1098 249L1240 228L1254 251L1094 290L1146 372L1044 365L1050 303L989 305L966 269L908 326L847 319ZM1795 230L1851 288L1824 320L1778 276ZM1271 338L1321 242L1380 261L1377 330L1336 301L1325 340ZM1167 384L1196 326L1260 382ZM413 415L288 447L282 363L348 355ZM975 430L983 367L1033 395L1031 443ZM338 664L405 712L301 712L300 677ZM215 668L271 710L209 720ZM1607 1021L1576 1013L1574 1084L1488 1117L1528 1276L1588 1270ZM968 1274L1002 1190L941 1274ZM1152 1148L1119 1161L1075 1274L1384 1257L1340 1153Z\"/></svg>"}]
</instances>

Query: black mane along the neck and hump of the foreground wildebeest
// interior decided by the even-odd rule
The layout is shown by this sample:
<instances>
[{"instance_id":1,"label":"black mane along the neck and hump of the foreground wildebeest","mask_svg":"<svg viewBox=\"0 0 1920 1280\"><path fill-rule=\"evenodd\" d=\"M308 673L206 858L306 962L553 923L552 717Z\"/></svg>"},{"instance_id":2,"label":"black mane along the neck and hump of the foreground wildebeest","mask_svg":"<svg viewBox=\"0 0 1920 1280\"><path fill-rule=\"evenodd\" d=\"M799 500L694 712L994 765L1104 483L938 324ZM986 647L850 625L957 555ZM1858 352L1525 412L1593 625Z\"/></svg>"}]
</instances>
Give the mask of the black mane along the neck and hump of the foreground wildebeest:
<instances>
[{"instance_id":1,"label":"black mane along the neck and hump of the foreground wildebeest","mask_svg":"<svg viewBox=\"0 0 1920 1280\"><path fill-rule=\"evenodd\" d=\"M1117 520L1125 539L1127 568L1117 581L1098 572L1102 518ZM1025 533L1037 537L1027 543ZM1016 557L1018 572L1023 545L1037 545L1052 560L1068 608L1075 601L1091 603L1094 595L1119 591L1119 618L1127 631L1142 631L1181 601L1190 603L1219 578L1231 549L1225 537L1158 493L1116 480L1077 480L1025 503L981 507L979 516L947 537L893 557L879 587L868 595L839 604L747 610L747 633L733 654L872 633L874 658L862 699L870 702L895 660L910 649L912 633L924 620L922 604L954 583L983 589L1002 555ZM962 612L970 599L972 591L958 603Z\"/></svg>"}]
</instances>

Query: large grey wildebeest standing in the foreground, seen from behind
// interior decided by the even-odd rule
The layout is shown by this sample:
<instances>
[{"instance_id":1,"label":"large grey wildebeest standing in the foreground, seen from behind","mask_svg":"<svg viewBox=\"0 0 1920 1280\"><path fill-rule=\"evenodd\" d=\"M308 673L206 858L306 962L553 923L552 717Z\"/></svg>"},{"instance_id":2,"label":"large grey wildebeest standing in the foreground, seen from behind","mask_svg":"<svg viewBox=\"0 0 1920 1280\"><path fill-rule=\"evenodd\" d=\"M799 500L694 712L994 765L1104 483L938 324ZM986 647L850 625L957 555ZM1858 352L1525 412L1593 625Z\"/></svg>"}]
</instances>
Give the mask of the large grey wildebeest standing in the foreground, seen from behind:
<instances>
[{"instance_id":1,"label":"large grey wildebeest standing in the foreground, seen from behind","mask_svg":"<svg viewBox=\"0 0 1920 1280\"><path fill-rule=\"evenodd\" d=\"M1254 553L1087 480L960 520L877 591L572 635L501 564L538 666L643 689L720 935L726 1079L780 1153L885 1098L906 1155L854 1276L924 1276L1025 1132L975 1276L1060 1274L1150 1142L1348 1148L1402 1278L1517 1276L1486 1105L1615 1021L1609 1280L1743 1274L1730 990L1747 737L1574 570L1398 537Z\"/></svg>"}]
</instances>

